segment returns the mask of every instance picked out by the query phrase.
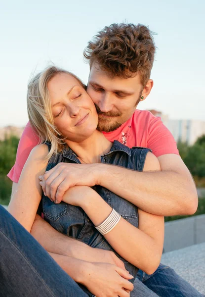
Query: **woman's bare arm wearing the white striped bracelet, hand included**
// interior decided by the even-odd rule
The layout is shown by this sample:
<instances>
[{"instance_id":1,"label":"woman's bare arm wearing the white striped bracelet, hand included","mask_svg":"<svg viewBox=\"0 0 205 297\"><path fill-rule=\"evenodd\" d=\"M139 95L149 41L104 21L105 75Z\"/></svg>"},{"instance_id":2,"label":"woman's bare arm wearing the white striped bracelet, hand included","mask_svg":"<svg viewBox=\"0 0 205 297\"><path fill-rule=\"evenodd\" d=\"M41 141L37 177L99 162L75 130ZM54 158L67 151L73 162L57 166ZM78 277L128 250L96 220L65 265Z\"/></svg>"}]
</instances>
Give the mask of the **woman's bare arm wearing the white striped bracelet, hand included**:
<instances>
[{"instance_id":1,"label":"woman's bare arm wearing the white striped bracelet, hand included","mask_svg":"<svg viewBox=\"0 0 205 297\"><path fill-rule=\"evenodd\" d=\"M159 162L152 153L147 155L145 170L160 170ZM110 205L86 186L69 189L63 200L81 206L95 226L100 225L112 211ZM152 274L159 266L162 256L164 217L139 209L139 228L121 217L116 227L104 237L124 259Z\"/></svg>"}]
</instances>

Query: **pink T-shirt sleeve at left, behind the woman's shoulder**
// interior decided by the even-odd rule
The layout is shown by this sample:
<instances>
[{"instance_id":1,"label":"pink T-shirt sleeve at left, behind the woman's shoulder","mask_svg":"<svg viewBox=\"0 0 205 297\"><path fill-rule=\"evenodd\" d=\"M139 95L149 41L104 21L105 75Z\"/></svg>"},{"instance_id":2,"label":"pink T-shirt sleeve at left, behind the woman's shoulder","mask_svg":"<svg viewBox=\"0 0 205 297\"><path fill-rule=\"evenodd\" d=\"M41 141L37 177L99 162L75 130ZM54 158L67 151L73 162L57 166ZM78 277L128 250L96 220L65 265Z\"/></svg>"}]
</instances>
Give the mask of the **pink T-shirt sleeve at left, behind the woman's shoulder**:
<instances>
[{"instance_id":1,"label":"pink T-shirt sleeve at left, behind the woman's shoulder","mask_svg":"<svg viewBox=\"0 0 205 297\"><path fill-rule=\"evenodd\" d=\"M37 146L39 144L39 141L39 137L32 130L30 123L28 123L23 131L23 134L18 144L15 164L7 175L7 177L9 177L10 180L12 180L15 183L18 183L24 164L26 163L26 160L32 148Z\"/></svg>"}]
</instances>

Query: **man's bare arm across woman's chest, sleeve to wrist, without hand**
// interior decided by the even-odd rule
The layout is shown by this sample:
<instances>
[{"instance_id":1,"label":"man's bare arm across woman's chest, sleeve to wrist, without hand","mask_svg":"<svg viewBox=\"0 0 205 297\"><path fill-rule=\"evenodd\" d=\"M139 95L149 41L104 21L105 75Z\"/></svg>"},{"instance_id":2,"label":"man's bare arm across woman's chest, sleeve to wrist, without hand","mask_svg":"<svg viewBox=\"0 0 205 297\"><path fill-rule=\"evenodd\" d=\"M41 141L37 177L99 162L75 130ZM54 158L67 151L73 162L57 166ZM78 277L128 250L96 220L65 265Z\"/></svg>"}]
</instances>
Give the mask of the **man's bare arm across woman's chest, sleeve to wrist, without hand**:
<instances>
[{"instance_id":1,"label":"man's bare arm across woman's chest, sleeve to wrist, without hand","mask_svg":"<svg viewBox=\"0 0 205 297\"><path fill-rule=\"evenodd\" d=\"M162 170L160 172L146 172L146 162L143 172L99 164L98 183L153 214L193 214L197 210L198 197L186 165L175 154L162 155L158 160Z\"/></svg>"}]
</instances>

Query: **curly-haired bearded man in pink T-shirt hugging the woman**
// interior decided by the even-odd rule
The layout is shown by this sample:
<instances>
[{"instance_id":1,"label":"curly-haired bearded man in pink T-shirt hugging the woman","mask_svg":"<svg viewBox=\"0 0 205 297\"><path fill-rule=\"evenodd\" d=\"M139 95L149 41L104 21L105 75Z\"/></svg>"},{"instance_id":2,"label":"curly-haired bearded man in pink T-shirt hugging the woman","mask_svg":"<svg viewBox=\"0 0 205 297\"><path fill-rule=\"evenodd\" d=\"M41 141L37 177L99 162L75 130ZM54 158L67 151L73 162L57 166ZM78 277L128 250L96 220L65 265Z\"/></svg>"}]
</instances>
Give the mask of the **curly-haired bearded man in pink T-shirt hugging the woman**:
<instances>
[{"instance_id":1,"label":"curly-haired bearded man in pink T-shirt hugging the woman","mask_svg":"<svg viewBox=\"0 0 205 297\"><path fill-rule=\"evenodd\" d=\"M156 215L193 214L196 211L196 188L172 135L149 111L136 110L138 103L146 99L153 87L150 73L154 54L155 46L149 29L133 24L105 27L84 51L90 64L87 93L98 111L98 129L110 141L116 139L128 147L151 148L162 171L135 172L109 164L60 163L40 177L42 189L51 200L59 203L69 187L98 184ZM14 183L18 182L28 154L38 142L38 137L27 125L19 143L15 166L8 175ZM17 185L13 184L13 191L16 189ZM43 237L42 226L47 230ZM97 256L90 252L85 255L82 243L62 234L56 236L55 233L53 240L54 231L38 218L32 235L47 251L82 260L96 259ZM117 261L114 255L108 259L108 253L105 258L110 263ZM191 286L162 264L152 276L140 271L135 288L143 288L140 291L142 296L151 296L152 292L160 296L187 297L192 292ZM192 296L198 296L193 292Z\"/></svg>"}]
</instances>

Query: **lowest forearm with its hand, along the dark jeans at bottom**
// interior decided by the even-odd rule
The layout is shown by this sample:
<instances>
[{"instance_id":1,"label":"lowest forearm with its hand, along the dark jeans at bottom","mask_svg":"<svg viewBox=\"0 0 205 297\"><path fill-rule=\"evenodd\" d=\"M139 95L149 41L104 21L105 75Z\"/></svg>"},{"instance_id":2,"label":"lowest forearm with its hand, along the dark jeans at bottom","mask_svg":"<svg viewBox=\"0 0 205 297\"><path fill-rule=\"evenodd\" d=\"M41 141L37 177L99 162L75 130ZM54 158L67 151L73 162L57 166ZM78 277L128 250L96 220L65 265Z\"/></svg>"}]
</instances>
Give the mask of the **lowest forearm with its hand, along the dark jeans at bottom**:
<instances>
[{"instance_id":1,"label":"lowest forearm with its hand, along the dark jeans at bottom","mask_svg":"<svg viewBox=\"0 0 205 297\"><path fill-rule=\"evenodd\" d=\"M129 291L133 290L133 284L128 281L133 276L118 266L49 254L74 281L87 287L95 296L129 297Z\"/></svg>"}]
</instances>

